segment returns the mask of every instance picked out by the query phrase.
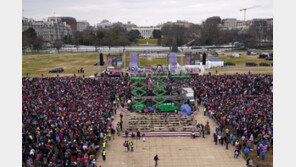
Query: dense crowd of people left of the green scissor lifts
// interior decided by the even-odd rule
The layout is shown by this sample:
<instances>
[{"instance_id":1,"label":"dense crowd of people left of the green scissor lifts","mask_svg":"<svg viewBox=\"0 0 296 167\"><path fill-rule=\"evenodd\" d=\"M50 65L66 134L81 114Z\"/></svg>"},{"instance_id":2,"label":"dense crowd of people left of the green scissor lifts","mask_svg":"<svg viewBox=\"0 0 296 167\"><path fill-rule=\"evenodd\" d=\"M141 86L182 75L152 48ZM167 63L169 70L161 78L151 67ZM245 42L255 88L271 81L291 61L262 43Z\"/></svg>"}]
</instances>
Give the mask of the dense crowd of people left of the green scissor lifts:
<instances>
[{"instance_id":1,"label":"dense crowd of people left of the green scissor lifts","mask_svg":"<svg viewBox=\"0 0 296 167\"><path fill-rule=\"evenodd\" d=\"M98 148L114 131L116 98L128 98L128 82L124 77L23 78L23 166L95 164Z\"/></svg>"}]
</instances>

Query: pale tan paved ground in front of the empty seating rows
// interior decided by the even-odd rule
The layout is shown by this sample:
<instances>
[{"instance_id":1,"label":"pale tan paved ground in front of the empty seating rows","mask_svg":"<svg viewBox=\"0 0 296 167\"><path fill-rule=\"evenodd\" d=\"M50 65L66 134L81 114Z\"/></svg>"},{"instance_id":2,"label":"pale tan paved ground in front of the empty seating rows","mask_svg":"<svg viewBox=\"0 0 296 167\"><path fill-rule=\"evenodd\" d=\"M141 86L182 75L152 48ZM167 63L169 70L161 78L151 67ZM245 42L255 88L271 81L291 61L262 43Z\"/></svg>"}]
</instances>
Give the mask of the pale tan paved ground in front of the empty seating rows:
<instances>
[{"instance_id":1,"label":"pale tan paved ground in front of the empty seating rows","mask_svg":"<svg viewBox=\"0 0 296 167\"><path fill-rule=\"evenodd\" d=\"M115 116L114 124L118 122L120 112ZM205 124L208 120L213 130L214 122L203 116L203 110L196 115L198 122ZM153 167L153 157L158 154L158 167L245 167L242 157L233 158L233 147L225 149L225 145L215 145L212 135L206 138L192 139L190 137L150 137L146 142L131 139L135 146L134 152L127 152L123 147L126 138L115 137L108 143L106 161L100 155L98 167Z\"/></svg>"}]
</instances>

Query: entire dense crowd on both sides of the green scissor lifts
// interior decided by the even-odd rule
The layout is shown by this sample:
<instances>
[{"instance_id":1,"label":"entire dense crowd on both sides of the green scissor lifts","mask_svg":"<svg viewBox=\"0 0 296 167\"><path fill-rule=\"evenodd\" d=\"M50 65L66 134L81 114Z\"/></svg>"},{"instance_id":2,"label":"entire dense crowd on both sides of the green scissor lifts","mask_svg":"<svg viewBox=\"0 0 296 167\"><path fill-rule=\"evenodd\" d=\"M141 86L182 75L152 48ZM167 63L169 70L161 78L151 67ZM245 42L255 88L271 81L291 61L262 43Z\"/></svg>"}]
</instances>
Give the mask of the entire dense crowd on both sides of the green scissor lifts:
<instances>
[{"instance_id":1,"label":"entire dense crowd on both sides of the green scissor lifts","mask_svg":"<svg viewBox=\"0 0 296 167\"><path fill-rule=\"evenodd\" d=\"M128 77L23 78L22 82L26 166L90 166L98 145L114 129L116 101L130 99L132 90ZM166 82L194 89L198 102L220 125L216 135L234 130L244 147L253 143L259 152L272 147L273 75L205 75Z\"/></svg>"}]
</instances>

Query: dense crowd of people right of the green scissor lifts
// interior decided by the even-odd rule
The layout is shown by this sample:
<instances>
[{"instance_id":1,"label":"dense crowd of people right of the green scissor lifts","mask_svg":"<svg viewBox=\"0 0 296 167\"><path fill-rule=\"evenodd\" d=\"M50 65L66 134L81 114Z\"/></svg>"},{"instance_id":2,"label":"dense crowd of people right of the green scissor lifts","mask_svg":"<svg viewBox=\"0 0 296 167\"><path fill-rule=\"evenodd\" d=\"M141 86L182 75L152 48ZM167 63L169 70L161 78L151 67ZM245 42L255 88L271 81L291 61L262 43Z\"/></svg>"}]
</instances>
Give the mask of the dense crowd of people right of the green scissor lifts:
<instances>
[{"instance_id":1,"label":"dense crowd of people right of the green scissor lifts","mask_svg":"<svg viewBox=\"0 0 296 167\"><path fill-rule=\"evenodd\" d=\"M273 76L203 76L194 78L191 84L206 114L219 125L215 143L225 143L226 149L232 143L236 156L242 151L246 159L251 150L257 150L258 158L261 154L264 160L273 146Z\"/></svg>"}]
</instances>

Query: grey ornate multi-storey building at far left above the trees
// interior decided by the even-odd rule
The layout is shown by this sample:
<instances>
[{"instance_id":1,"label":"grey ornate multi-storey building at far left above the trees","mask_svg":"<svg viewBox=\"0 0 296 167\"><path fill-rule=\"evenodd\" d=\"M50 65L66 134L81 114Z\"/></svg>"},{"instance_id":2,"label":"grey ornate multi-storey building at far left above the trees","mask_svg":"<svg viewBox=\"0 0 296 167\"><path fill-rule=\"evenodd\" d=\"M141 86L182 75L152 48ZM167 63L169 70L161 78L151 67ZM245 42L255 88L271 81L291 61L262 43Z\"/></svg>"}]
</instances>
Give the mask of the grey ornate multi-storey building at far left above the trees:
<instances>
[{"instance_id":1,"label":"grey ornate multi-storey building at far left above the trees","mask_svg":"<svg viewBox=\"0 0 296 167\"><path fill-rule=\"evenodd\" d=\"M23 31L29 27L34 28L37 36L47 42L61 40L64 36L72 34L71 27L60 19L50 18L47 21L35 21L33 19L23 18L22 26Z\"/></svg>"}]
</instances>

